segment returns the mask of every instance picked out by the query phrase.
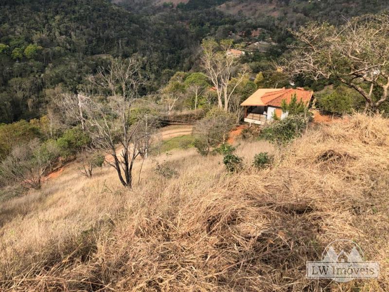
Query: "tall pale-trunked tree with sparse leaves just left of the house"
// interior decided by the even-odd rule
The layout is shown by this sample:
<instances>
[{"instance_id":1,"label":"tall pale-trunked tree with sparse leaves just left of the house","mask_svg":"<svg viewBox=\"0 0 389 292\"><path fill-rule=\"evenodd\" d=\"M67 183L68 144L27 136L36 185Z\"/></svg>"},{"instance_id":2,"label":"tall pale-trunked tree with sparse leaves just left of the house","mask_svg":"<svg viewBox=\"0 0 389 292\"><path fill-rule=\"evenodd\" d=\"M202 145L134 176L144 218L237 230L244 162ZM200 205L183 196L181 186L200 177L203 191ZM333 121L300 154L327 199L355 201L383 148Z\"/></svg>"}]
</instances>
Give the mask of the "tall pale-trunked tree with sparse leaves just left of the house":
<instances>
[{"instance_id":1,"label":"tall pale-trunked tree with sparse leaves just left of the house","mask_svg":"<svg viewBox=\"0 0 389 292\"><path fill-rule=\"evenodd\" d=\"M202 48L202 66L217 93L218 107L228 111L231 96L245 79L249 68L247 65L240 65L237 56L228 54L232 48L231 40L218 43L214 39L206 39ZM232 77L236 78L234 86L230 86Z\"/></svg>"}]
</instances>

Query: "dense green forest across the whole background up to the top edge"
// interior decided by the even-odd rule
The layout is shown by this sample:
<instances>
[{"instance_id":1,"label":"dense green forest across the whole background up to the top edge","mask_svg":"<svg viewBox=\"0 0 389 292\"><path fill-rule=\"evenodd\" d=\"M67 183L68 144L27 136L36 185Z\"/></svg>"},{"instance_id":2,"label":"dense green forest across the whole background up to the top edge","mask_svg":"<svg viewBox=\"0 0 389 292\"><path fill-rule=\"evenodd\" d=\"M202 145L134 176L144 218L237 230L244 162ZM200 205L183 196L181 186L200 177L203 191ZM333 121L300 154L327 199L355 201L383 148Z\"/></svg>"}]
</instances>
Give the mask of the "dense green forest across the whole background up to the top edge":
<instances>
[{"instance_id":1,"label":"dense green forest across the whole background up to the top edge","mask_svg":"<svg viewBox=\"0 0 389 292\"><path fill-rule=\"evenodd\" d=\"M276 13L256 18L242 11L224 13L218 8L224 2L189 0L174 6L152 0L1 0L0 123L44 114L58 93L82 89L86 76L109 62L109 56L141 59L147 76L141 93L146 94L175 72L190 71L204 37L221 39L230 31L261 27L279 44L270 52L277 57L292 41L288 27L312 19L341 22L388 6L378 0L238 1L277 7L272 8ZM258 73L267 57L245 61Z\"/></svg>"}]
</instances>

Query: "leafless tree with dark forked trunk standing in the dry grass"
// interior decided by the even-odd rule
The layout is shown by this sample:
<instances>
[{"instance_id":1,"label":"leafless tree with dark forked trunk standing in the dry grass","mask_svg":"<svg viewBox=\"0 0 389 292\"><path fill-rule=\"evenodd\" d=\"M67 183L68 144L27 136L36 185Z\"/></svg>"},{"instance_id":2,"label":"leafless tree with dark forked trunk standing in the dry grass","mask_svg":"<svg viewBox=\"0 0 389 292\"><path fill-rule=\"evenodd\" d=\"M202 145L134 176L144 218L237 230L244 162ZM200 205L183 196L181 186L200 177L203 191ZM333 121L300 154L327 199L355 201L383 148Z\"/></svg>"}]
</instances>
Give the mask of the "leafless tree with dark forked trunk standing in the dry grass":
<instances>
[{"instance_id":1,"label":"leafless tree with dark forked trunk standing in the dry grass","mask_svg":"<svg viewBox=\"0 0 389 292\"><path fill-rule=\"evenodd\" d=\"M107 70L99 69L90 81L106 90L109 96L105 101L87 96L83 107L94 146L112 156L106 163L116 169L120 182L127 187L132 187L135 159L146 155L152 139L150 129L155 125L147 116L136 121L130 118L132 104L142 83L140 66L135 59L114 59Z\"/></svg>"}]
</instances>

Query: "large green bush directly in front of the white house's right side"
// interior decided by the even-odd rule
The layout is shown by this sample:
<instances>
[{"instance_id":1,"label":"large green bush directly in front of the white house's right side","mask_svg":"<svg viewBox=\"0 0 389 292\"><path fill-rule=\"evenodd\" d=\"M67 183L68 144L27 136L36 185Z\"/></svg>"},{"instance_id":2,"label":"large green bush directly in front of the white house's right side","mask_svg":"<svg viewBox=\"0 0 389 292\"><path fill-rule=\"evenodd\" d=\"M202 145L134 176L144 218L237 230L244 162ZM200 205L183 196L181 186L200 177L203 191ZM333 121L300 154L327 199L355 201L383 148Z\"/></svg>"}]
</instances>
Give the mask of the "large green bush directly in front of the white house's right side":
<instances>
[{"instance_id":1,"label":"large green bush directly in front of the white house's right side","mask_svg":"<svg viewBox=\"0 0 389 292\"><path fill-rule=\"evenodd\" d=\"M264 128L260 139L265 139L277 145L283 145L300 136L306 129L309 118L304 115L289 115L281 121L275 121Z\"/></svg>"}]
</instances>

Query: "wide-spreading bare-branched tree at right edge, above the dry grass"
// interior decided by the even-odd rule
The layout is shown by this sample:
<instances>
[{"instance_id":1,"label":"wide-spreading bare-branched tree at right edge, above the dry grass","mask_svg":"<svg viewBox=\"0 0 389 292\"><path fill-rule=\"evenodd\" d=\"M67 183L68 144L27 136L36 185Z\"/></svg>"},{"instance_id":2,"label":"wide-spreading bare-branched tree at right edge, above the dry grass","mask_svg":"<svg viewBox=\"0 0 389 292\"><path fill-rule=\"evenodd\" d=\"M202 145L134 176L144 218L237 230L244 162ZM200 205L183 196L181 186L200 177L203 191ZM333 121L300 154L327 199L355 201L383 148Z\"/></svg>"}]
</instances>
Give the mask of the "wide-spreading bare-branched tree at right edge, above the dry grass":
<instances>
[{"instance_id":1,"label":"wide-spreading bare-branched tree at right edge, above the dry grass","mask_svg":"<svg viewBox=\"0 0 389 292\"><path fill-rule=\"evenodd\" d=\"M365 110L388 99L388 13L352 18L337 27L313 22L292 33L299 43L283 62L287 72L336 79L363 96Z\"/></svg>"}]
</instances>

